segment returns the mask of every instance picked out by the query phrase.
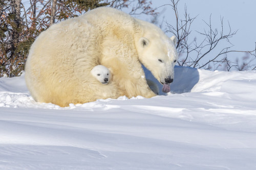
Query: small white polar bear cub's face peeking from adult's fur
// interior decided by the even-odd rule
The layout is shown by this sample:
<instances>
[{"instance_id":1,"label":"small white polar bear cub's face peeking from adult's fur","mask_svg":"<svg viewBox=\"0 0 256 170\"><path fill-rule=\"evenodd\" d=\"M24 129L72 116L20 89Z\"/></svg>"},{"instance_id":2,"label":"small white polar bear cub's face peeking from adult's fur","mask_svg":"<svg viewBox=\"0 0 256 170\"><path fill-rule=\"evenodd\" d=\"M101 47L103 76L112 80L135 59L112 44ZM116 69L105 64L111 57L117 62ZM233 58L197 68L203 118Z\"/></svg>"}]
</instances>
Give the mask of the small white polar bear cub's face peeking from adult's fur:
<instances>
[{"instance_id":1,"label":"small white polar bear cub's face peeking from adult's fur","mask_svg":"<svg viewBox=\"0 0 256 170\"><path fill-rule=\"evenodd\" d=\"M96 65L91 70L91 74L102 84L109 84L111 79L111 72L109 68L104 65Z\"/></svg>"}]
</instances>

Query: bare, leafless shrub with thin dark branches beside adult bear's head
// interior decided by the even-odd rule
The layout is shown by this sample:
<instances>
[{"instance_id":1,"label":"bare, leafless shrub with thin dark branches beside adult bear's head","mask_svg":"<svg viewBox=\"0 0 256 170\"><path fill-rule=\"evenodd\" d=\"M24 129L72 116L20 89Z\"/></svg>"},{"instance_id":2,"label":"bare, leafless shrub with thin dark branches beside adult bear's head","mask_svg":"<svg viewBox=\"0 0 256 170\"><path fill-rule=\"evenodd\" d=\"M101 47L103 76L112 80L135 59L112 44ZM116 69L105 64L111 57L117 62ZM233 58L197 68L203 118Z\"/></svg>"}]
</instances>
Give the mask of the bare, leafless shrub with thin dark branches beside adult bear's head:
<instances>
[{"instance_id":1,"label":"bare, leafless shrub with thin dark branches beside adult bear's head","mask_svg":"<svg viewBox=\"0 0 256 170\"><path fill-rule=\"evenodd\" d=\"M228 59L227 54L234 52L246 53L251 57L251 60L254 60L256 57L254 54L256 49L253 51L230 50L233 45L229 41L229 38L236 35L237 31L232 31L229 23L228 28L224 28L223 17L220 18L220 28L214 28L212 27L210 15L208 22L203 21L206 29L204 29L203 32L197 31L198 37L202 38L199 40L197 38L191 40L191 25L196 17L190 17L185 6L184 17L183 19L180 19L177 8L179 0L170 0L170 2L170 4L163 6L172 7L176 16L176 24L173 26L166 22L168 28L166 32L170 32L177 37L177 51L180 57L178 61L179 65L207 70L215 70L224 66L227 71L232 67L237 68L238 70L251 68L248 63L240 66L238 64L239 60L237 60L237 62L231 62ZM226 43L223 44L223 42ZM223 45L225 47L220 48L220 46ZM255 69L255 67L253 69Z\"/></svg>"}]
</instances>

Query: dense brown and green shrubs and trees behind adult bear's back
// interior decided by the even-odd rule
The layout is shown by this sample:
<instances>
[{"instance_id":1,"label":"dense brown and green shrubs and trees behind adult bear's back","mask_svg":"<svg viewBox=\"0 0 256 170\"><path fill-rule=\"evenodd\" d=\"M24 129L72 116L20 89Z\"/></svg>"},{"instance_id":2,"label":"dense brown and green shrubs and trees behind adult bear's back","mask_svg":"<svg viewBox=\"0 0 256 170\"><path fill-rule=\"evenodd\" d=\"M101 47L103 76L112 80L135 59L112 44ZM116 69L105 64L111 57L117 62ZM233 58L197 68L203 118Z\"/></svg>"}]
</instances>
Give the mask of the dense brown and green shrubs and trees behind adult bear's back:
<instances>
[{"instance_id":1,"label":"dense brown and green shrubs and trees behind adult bear's back","mask_svg":"<svg viewBox=\"0 0 256 170\"><path fill-rule=\"evenodd\" d=\"M157 14L148 0L29 0L29 3L26 9L21 0L0 1L0 77L19 76L31 44L55 22L107 5L118 9L132 6L131 15Z\"/></svg>"}]
</instances>

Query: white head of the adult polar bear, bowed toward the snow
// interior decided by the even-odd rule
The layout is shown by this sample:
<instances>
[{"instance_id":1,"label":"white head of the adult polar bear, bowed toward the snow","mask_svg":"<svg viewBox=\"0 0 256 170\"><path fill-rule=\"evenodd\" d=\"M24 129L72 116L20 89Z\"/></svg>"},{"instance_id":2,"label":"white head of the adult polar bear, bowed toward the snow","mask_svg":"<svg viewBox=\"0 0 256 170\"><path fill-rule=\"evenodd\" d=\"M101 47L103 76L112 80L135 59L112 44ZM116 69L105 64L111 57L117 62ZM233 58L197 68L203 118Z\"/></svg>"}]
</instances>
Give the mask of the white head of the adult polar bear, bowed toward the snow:
<instances>
[{"instance_id":1,"label":"white head of the adult polar bear, bowed toward the snow","mask_svg":"<svg viewBox=\"0 0 256 170\"><path fill-rule=\"evenodd\" d=\"M139 20L143 33L135 39L140 62L163 84L163 92L169 92L174 79L174 66L178 61L176 37L145 21Z\"/></svg>"}]
</instances>

